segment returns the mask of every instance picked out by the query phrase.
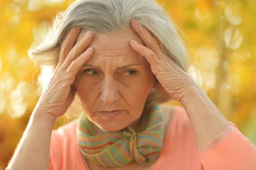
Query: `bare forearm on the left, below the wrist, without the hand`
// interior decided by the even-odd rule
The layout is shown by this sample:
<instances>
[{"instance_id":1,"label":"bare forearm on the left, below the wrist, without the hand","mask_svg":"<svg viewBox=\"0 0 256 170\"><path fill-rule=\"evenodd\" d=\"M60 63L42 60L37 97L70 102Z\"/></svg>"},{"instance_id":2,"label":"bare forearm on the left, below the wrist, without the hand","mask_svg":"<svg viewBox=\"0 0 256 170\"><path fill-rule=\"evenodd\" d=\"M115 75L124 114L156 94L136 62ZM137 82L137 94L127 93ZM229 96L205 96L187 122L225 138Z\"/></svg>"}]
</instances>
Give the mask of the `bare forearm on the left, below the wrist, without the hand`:
<instances>
[{"instance_id":1,"label":"bare forearm on the left, below the wrist, without the hand","mask_svg":"<svg viewBox=\"0 0 256 170\"><path fill-rule=\"evenodd\" d=\"M9 162L9 170L49 170L49 147L56 117L35 109L17 149Z\"/></svg>"}]
</instances>

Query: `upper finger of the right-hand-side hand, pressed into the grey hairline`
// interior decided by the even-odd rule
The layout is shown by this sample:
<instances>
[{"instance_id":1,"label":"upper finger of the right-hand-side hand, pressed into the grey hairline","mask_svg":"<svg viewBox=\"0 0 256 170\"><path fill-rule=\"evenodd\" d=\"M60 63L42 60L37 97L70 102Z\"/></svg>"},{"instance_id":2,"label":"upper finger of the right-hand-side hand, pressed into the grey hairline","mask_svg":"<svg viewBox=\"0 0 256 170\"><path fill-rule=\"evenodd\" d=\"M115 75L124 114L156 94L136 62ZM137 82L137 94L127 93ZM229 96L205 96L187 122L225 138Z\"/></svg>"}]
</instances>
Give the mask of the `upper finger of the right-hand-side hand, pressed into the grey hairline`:
<instances>
[{"instance_id":1,"label":"upper finger of the right-hand-side hand, pressed into the grey hairline","mask_svg":"<svg viewBox=\"0 0 256 170\"><path fill-rule=\"evenodd\" d=\"M131 26L134 29L135 32L140 36L140 38L143 40L143 42L146 44L146 46L153 50L153 52L158 56L162 56L162 52L160 47L158 46L157 39L155 39L148 30L137 23L136 19L132 19Z\"/></svg>"}]
</instances>

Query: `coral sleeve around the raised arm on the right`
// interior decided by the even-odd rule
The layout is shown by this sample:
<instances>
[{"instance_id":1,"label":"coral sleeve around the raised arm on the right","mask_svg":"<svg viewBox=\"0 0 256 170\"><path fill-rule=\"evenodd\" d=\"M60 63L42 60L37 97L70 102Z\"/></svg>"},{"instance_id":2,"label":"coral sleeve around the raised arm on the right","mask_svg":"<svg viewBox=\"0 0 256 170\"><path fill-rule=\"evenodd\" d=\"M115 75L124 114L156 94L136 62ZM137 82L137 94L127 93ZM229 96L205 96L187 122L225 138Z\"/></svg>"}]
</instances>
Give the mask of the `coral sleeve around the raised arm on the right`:
<instances>
[{"instance_id":1,"label":"coral sleeve around the raised arm on the right","mask_svg":"<svg viewBox=\"0 0 256 170\"><path fill-rule=\"evenodd\" d=\"M198 148L204 170L256 170L256 147L229 123L221 134Z\"/></svg>"}]
</instances>

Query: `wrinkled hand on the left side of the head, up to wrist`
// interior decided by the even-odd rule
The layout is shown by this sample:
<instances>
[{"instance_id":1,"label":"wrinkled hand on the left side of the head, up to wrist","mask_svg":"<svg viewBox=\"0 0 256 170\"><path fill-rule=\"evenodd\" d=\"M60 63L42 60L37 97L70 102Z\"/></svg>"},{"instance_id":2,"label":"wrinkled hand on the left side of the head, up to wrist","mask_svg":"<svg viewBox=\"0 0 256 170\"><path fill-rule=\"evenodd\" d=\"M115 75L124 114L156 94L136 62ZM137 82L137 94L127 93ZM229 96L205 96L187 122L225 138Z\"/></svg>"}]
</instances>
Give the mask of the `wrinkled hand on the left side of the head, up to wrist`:
<instances>
[{"instance_id":1,"label":"wrinkled hand on the left side of the head, up to wrist","mask_svg":"<svg viewBox=\"0 0 256 170\"><path fill-rule=\"evenodd\" d=\"M93 39L92 32L87 32L87 36L73 46L80 30L81 28L75 27L68 32L61 45L60 58L52 78L36 106L40 112L46 112L55 118L64 115L73 102L76 94L76 88L73 86L76 74L93 54L93 48L84 52Z\"/></svg>"}]
</instances>

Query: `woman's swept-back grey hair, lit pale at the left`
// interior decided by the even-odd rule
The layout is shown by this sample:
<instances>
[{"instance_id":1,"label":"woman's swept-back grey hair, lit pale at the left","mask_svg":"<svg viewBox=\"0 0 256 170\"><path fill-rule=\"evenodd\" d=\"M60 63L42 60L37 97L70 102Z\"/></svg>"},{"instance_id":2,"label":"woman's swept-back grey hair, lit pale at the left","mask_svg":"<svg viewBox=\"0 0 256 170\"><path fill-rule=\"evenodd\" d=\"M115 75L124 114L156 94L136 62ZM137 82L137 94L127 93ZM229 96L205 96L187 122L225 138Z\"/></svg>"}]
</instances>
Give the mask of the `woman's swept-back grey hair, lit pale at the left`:
<instances>
[{"instance_id":1,"label":"woman's swept-back grey hair, lit pale at the left","mask_svg":"<svg viewBox=\"0 0 256 170\"><path fill-rule=\"evenodd\" d=\"M76 0L65 12L59 12L52 26L42 36L39 45L32 44L29 57L41 67L38 93L44 91L53 70L57 66L60 46L73 27L83 30L111 34L131 26L131 19L137 19L163 43L166 53L181 69L187 72L188 54L168 11L155 0ZM81 103L76 95L68 109L70 118L81 112ZM148 95L146 104L164 103L171 100L156 89Z\"/></svg>"}]
</instances>

